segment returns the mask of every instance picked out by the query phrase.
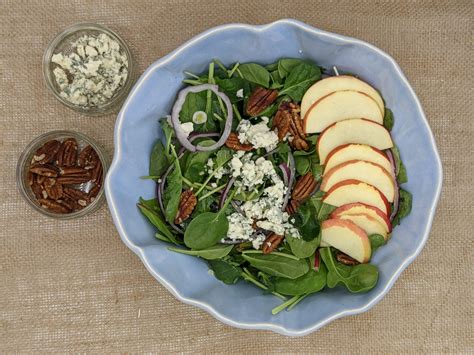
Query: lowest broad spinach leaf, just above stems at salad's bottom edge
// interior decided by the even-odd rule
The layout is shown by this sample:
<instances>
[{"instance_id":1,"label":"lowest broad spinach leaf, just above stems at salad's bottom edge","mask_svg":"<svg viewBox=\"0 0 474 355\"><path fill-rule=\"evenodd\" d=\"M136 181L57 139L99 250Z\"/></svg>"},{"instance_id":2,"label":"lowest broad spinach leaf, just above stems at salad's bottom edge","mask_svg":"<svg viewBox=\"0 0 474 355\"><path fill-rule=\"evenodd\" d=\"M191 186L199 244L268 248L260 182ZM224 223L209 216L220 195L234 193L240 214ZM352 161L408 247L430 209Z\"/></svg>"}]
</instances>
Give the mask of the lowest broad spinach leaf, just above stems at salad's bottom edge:
<instances>
[{"instance_id":1,"label":"lowest broad spinach leaf, just above stems at salad's bottom edge","mask_svg":"<svg viewBox=\"0 0 474 355\"><path fill-rule=\"evenodd\" d=\"M273 280L273 286L276 292L297 296L321 291L326 286L327 269L321 265L318 271L313 268L294 280L278 277Z\"/></svg>"}]
</instances>

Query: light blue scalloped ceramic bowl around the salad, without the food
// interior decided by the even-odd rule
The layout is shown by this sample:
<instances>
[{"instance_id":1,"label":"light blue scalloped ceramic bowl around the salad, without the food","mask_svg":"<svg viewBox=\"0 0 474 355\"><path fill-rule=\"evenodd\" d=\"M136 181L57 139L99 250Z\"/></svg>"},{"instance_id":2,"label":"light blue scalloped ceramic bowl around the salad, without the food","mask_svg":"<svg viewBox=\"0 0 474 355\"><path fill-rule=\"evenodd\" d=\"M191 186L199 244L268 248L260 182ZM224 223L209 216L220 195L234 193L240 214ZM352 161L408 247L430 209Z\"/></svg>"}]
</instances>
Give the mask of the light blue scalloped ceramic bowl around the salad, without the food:
<instances>
[{"instance_id":1,"label":"light blue scalloped ceramic bowl around the salad, without the food","mask_svg":"<svg viewBox=\"0 0 474 355\"><path fill-rule=\"evenodd\" d=\"M208 273L205 262L173 253L154 238L140 215L140 196L155 193L148 174L153 143L161 136L158 118L169 114L183 71L199 73L213 58L233 62L272 63L281 57L309 58L326 68L357 73L382 92L393 110L393 136L400 147L413 193L413 210L396 227L390 242L375 254L380 269L377 286L364 294L324 290L291 312L272 316L280 300L245 282L225 285ZM106 179L106 195L123 242L148 271L179 300L195 305L229 325L305 335L339 317L369 310L392 287L425 244L441 190L442 170L433 135L420 103L395 61L374 46L328 33L295 20L264 26L224 25L210 29L152 64L126 100L115 126L115 156Z\"/></svg>"}]
</instances>

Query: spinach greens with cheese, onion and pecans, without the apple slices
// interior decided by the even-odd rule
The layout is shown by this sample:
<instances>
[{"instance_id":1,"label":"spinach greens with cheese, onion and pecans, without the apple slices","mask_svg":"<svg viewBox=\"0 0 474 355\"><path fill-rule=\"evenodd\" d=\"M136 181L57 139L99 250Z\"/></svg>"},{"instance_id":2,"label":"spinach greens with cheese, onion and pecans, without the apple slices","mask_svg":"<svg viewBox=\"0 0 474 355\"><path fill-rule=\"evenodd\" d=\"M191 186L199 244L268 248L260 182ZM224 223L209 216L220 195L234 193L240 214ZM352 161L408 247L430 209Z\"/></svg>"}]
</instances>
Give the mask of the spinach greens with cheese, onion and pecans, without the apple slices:
<instances>
[{"instance_id":1,"label":"spinach greens with cheese, onion and pecans, without the apple slices","mask_svg":"<svg viewBox=\"0 0 474 355\"><path fill-rule=\"evenodd\" d=\"M206 73L186 72L172 117L159 121L163 138L144 177L156 182L156 196L138 202L156 238L172 244L169 250L203 259L226 284L244 280L281 298L273 314L325 287L366 292L378 280L376 265L320 245L322 224L336 206L324 203L318 189L324 172L319 134L290 127L279 137L283 124L275 124L278 115L290 126L299 118L305 92L325 72L293 58L229 67L214 60ZM389 109L384 126L393 126ZM389 154L398 187L407 181L406 169L396 147ZM296 198L295 185L304 177L310 188ZM410 193L398 191L392 225L411 209ZM377 234L368 239L372 254L386 243Z\"/></svg>"}]
</instances>

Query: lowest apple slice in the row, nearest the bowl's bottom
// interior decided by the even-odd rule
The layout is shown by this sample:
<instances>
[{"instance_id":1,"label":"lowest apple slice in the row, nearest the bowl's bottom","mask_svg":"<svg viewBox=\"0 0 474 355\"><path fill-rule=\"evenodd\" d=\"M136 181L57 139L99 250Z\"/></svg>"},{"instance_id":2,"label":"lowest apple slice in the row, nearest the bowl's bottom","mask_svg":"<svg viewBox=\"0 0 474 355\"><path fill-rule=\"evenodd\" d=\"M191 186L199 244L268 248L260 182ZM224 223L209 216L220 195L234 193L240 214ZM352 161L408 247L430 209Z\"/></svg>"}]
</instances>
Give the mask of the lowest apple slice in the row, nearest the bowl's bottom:
<instances>
[{"instance_id":1,"label":"lowest apple slice in the row, nearest the bowl's bottom","mask_svg":"<svg viewBox=\"0 0 474 355\"><path fill-rule=\"evenodd\" d=\"M367 233L355 223L327 219L321 224L321 242L336 248L360 263L370 260L372 249Z\"/></svg>"}]
</instances>

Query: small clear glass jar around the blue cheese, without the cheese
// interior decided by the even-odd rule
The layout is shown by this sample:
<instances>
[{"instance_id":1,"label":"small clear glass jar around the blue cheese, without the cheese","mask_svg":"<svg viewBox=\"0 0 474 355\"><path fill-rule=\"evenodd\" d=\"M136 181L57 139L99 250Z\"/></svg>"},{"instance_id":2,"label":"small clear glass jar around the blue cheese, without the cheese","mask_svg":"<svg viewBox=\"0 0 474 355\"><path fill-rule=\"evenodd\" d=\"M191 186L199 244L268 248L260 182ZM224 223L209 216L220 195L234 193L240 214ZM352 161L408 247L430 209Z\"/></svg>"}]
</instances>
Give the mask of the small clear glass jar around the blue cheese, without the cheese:
<instances>
[{"instance_id":1,"label":"small clear glass jar around the blue cheese, without the cheese","mask_svg":"<svg viewBox=\"0 0 474 355\"><path fill-rule=\"evenodd\" d=\"M61 90L56 82L53 70L58 66L52 62L52 56L57 53L69 54L73 51L72 44L84 35L98 36L105 33L113 40L117 41L121 49L125 52L128 60L128 76L123 86L105 103L97 106L80 106L75 105L61 96ZM86 115L98 116L107 113L118 111L125 99L127 98L130 89L132 88L135 76L135 65L133 63L132 54L126 45L125 41L114 31L94 23L78 23L71 27L64 29L54 38L48 45L46 52L43 55L43 76L47 87L51 90L53 95L67 107L81 112Z\"/></svg>"}]
</instances>

